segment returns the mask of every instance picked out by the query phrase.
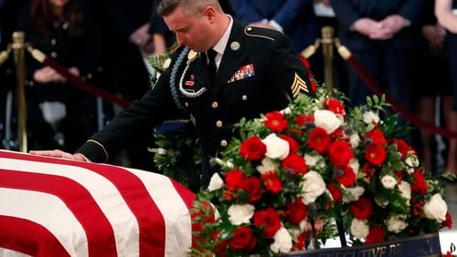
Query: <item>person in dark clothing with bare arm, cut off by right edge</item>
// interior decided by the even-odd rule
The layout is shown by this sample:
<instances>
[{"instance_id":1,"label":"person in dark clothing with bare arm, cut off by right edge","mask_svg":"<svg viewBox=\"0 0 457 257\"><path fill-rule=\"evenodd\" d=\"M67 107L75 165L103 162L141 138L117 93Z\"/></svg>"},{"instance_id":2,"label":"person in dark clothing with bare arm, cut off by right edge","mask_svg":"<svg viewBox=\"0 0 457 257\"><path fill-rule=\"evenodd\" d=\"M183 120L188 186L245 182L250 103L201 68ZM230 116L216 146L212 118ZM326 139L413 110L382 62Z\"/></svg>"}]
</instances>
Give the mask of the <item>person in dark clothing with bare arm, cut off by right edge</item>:
<instances>
[{"instance_id":1,"label":"person in dark clothing with bare arm, cut off by right edge","mask_svg":"<svg viewBox=\"0 0 457 257\"><path fill-rule=\"evenodd\" d=\"M452 82L452 121L451 127L457 131L457 1L436 0L435 15L441 26L449 32L446 36L446 49L449 58ZM448 127L449 128L449 127ZM457 174L457 139L451 139L446 170Z\"/></svg>"}]
</instances>

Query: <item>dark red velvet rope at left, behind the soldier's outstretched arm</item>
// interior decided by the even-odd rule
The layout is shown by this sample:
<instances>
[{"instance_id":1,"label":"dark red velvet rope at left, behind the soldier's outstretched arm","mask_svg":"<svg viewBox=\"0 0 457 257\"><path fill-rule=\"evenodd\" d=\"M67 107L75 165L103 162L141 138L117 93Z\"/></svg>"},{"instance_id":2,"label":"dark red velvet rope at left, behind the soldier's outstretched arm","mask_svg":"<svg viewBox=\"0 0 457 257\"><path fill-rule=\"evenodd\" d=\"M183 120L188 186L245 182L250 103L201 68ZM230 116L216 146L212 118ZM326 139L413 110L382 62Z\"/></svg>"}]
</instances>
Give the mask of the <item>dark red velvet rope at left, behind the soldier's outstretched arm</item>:
<instances>
[{"instance_id":1,"label":"dark red velvet rope at left, behind the soldier's outstretched arm","mask_svg":"<svg viewBox=\"0 0 457 257\"><path fill-rule=\"evenodd\" d=\"M91 95L103 98L104 100L111 102L113 104L120 105L122 108L127 108L132 104L132 102L129 100L126 100L124 98L120 98L116 95L113 95L110 92L107 92L99 87L95 87L94 85L90 84L89 82L80 79L80 77L74 76L73 74L69 73L69 70L67 69L67 67L62 67L53 58L46 57L43 64L45 66L52 67L60 75L62 75L63 77L66 77L71 84L75 85L76 87L80 88L81 90L83 90Z\"/></svg>"}]
</instances>

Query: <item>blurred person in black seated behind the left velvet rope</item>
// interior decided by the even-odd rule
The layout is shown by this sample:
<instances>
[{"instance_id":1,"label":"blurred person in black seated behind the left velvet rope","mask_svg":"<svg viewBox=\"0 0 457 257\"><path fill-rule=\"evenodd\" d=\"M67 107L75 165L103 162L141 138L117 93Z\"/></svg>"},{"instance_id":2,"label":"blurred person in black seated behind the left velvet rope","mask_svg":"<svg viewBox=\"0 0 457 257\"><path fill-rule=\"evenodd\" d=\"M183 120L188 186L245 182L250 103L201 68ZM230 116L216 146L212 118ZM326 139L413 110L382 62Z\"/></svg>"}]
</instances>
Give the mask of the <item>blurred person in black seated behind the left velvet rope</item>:
<instances>
[{"instance_id":1,"label":"blurred person in black seated behind the left velvet rope","mask_svg":"<svg viewBox=\"0 0 457 257\"><path fill-rule=\"evenodd\" d=\"M96 72L99 31L78 0L32 0L21 10L17 29L71 74L90 80ZM77 149L96 131L95 98L30 55L26 65L30 148Z\"/></svg>"}]
</instances>

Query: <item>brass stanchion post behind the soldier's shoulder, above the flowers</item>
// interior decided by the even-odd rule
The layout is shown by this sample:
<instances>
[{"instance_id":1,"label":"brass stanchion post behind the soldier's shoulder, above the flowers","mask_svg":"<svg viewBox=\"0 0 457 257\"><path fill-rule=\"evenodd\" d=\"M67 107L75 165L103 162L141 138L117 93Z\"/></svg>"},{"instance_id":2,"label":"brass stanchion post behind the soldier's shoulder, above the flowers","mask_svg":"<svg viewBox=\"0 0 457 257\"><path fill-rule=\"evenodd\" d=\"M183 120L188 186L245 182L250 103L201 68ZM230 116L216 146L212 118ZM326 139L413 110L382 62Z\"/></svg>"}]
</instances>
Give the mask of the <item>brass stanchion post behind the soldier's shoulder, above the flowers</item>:
<instances>
[{"instance_id":1,"label":"brass stanchion post behind the soldier's shoulder, above the flowers","mask_svg":"<svg viewBox=\"0 0 457 257\"><path fill-rule=\"evenodd\" d=\"M322 28L322 48L324 53L324 81L327 89L332 92L334 89L334 34L332 26Z\"/></svg>"}]
</instances>

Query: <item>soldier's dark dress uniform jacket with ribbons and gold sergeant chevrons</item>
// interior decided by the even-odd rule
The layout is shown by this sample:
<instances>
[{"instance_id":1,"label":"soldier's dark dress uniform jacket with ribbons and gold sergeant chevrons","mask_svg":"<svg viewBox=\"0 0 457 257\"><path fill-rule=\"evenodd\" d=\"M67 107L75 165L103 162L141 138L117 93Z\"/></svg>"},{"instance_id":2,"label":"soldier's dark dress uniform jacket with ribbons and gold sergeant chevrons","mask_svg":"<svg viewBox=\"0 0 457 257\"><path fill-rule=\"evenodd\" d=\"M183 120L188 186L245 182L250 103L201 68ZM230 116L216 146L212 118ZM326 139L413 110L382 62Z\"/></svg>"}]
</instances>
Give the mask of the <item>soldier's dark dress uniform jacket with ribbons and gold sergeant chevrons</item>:
<instances>
[{"instance_id":1,"label":"soldier's dark dress uniform jacket with ribbons and gold sergeant chevrons","mask_svg":"<svg viewBox=\"0 0 457 257\"><path fill-rule=\"evenodd\" d=\"M192 55L193 61L186 67L191 56L188 51L178 47L154 89L94 134L78 152L92 161L106 161L112 152L152 133L154 126L182 107L194 121L204 154L215 156L227 146L231 127L240 118L258 118L260 113L285 108L292 89L295 93L311 91L308 72L289 38L271 29L242 26L234 20L214 83L209 80L204 53ZM178 88L180 81L186 92L202 87L207 91L197 98L186 97Z\"/></svg>"}]
</instances>

